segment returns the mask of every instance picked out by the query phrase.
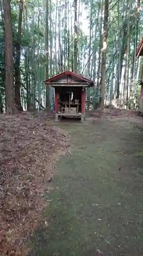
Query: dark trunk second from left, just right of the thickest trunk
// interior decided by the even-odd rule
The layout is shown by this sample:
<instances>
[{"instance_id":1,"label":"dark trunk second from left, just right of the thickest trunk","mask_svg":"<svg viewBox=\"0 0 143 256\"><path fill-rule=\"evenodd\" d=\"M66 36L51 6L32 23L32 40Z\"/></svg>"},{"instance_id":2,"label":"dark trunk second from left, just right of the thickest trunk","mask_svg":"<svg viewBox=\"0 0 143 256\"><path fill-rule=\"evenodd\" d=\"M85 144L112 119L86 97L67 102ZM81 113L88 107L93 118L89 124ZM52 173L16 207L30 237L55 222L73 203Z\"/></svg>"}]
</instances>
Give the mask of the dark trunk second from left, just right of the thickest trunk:
<instances>
[{"instance_id":1,"label":"dark trunk second from left, just right of the thickest trunk","mask_svg":"<svg viewBox=\"0 0 143 256\"><path fill-rule=\"evenodd\" d=\"M15 60L15 103L19 111L23 111L21 106L21 100L20 100L20 40L21 40L22 12L23 12L23 0L20 0L18 32L17 32L17 40L16 40L16 60Z\"/></svg>"}]
</instances>

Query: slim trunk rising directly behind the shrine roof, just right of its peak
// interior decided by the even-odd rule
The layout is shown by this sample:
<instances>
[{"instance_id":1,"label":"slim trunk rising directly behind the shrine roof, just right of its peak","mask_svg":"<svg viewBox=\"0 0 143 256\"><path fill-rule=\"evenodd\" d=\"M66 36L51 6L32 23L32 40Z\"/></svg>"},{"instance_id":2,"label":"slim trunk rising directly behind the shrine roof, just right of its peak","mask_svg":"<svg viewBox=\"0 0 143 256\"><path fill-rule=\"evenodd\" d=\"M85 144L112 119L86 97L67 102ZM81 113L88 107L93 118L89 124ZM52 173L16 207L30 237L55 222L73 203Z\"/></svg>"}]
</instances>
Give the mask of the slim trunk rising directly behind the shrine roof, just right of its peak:
<instances>
[{"instance_id":1,"label":"slim trunk rising directly behind the shrine roof, just right of its peak","mask_svg":"<svg viewBox=\"0 0 143 256\"><path fill-rule=\"evenodd\" d=\"M77 73L77 0L74 0L74 72Z\"/></svg>"}]
</instances>

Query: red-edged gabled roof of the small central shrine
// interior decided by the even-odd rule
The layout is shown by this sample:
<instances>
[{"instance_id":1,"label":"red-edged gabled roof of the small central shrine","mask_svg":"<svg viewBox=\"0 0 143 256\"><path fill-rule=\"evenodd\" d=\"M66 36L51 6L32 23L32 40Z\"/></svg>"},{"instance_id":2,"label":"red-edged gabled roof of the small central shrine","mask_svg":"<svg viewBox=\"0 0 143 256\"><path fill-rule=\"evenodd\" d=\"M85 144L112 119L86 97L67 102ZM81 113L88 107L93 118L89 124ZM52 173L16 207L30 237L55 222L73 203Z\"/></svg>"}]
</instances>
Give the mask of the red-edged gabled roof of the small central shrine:
<instances>
[{"instance_id":1,"label":"red-edged gabled roof of the small central shrine","mask_svg":"<svg viewBox=\"0 0 143 256\"><path fill-rule=\"evenodd\" d=\"M71 71L68 71L68 70L66 70L66 71L64 71L63 73L61 73L61 74L58 74L58 75L55 75L55 76L53 76L53 77L51 77L51 78L48 78L48 79L46 79L45 81L44 81L44 83L53 83L53 82L55 82L55 81L59 81L59 80L61 80L61 78L63 77L64 78L64 76L71 76L73 79L75 78L77 78L77 79L79 79L81 82L85 82L85 83L89 83L90 85L89 86L94 86L94 82L91 80L91 79L88 79L88 78L85 78L85 77L83 77L83 76L81 76L81 75L78 75L78 74L76 74L76 73L74 73L74 72L71 72Z\"/></svg>"}]
</instances>

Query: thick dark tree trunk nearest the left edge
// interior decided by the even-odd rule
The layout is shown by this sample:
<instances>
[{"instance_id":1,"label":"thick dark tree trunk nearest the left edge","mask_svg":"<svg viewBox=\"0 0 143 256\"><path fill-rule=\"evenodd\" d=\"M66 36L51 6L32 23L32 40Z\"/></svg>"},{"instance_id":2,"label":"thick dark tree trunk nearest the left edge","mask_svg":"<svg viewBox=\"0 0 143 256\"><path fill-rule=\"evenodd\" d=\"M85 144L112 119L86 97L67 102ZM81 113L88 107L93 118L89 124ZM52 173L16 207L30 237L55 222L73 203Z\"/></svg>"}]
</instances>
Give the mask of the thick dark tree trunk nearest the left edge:
<instances>
[{"instance_id":1,"label":"thick dark tree trunk nearest the left edge","mask_svg":"<svg viewBox=\"0 0 143 256\"><path fill-rule=\"evenodd\" d=\"M4 5L4 25L5 25L5 62L6 62L6 113L9 115L16 113L14 80L13 80L13 45L12 45L12 24L10 0L3 0Z\"/></svg>"}]
</instances>

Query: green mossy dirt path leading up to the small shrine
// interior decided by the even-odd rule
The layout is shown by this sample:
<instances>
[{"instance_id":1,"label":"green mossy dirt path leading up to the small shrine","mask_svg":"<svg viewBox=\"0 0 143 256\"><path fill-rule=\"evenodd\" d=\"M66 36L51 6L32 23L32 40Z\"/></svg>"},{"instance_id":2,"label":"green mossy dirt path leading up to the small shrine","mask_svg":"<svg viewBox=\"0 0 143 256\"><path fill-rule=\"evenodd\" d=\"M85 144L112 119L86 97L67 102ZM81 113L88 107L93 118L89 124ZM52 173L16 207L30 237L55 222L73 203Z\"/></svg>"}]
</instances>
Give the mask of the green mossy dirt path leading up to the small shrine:
<instances>
[{"instance_id":1,"label":"green mossy dirt path leading up to the small shrine","mask_svg":"<svg viewBox=\"0 0 143 256\"><path fill-rule=\"evenodd\" d=\"M141 122L59 124L74 146L57 166L31 256L143 255Z\"/></svg>"}]
</instances>

